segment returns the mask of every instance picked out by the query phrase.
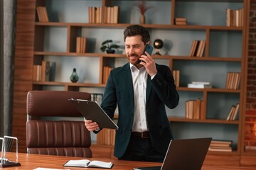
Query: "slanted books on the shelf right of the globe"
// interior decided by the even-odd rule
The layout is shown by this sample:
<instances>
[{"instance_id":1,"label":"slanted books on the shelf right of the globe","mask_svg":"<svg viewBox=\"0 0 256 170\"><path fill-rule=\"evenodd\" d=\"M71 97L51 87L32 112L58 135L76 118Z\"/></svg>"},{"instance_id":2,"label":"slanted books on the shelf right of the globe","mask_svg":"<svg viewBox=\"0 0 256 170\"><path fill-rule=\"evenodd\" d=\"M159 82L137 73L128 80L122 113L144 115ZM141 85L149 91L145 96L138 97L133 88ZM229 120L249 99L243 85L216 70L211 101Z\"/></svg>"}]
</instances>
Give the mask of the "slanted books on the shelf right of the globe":
<instances>
[{"instance_id":1,"label":"slanted books on the shelf right of the globe","mask_svg":"<svg viewBox=\"0 0 256 170\"><path fill-rule=\"evenodd\" d=\"M203 57L203 52L205 50L205 47L206 47L206 40L193 40L189 56Z\"/></svg>"}]
</instances>

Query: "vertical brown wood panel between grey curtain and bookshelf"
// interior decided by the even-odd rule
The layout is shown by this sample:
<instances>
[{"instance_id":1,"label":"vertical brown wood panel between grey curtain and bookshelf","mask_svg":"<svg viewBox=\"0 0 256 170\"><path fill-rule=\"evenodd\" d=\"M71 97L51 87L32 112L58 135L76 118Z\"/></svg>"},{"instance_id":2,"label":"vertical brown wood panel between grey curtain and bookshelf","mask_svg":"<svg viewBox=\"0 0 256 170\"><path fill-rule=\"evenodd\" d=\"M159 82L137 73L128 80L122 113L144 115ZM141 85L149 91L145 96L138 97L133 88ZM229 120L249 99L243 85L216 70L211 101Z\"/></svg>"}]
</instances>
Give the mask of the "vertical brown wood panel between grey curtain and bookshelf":
<instances>
[{"instance_id":1,"label":"vertical brown wood panel between grey curtain and bookshelf","mask_svg":"<svg viewBox=\"0 0 256 170\"><path fill-rule=\"evenodd\" d=\"M26 94L32 89L35 11L36 1L17 1L12 135L18 137L18 152L26 152Z\"/></svg>"}]
</instances>

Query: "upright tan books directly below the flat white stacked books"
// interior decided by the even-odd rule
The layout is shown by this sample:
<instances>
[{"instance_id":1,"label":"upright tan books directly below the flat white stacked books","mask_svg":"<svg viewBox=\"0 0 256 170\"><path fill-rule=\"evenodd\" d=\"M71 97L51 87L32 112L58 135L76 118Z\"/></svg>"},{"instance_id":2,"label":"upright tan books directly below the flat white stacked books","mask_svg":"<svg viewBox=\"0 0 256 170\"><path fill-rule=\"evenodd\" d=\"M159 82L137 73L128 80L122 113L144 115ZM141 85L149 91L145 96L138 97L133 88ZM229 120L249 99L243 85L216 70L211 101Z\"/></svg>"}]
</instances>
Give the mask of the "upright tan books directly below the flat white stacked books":
<instances>
[{"instance_id":1,"label":"upright tan books directly below the flat white stacked books","mask_svg":"<svg viewBox=\"0 0 256 170\"><path fill-rule=\"evenodd\" d=\"M203 109L203 100L200 98L196 100L189 100L186 101L186 115L185 118L188 119L205 119L206 114L204 113Z\"/></svg>"}]
</instances>

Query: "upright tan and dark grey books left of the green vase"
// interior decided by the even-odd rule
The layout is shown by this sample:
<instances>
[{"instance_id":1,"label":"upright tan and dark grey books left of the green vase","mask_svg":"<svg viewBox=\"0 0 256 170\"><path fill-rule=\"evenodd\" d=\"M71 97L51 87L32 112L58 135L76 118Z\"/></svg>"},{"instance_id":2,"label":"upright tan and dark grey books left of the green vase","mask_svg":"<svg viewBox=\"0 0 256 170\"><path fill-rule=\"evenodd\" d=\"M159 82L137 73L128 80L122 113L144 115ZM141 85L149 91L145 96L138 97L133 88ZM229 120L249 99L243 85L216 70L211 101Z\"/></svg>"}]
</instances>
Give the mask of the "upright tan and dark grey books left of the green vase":
<instances>
[{"instance_id":1,"label":"upright tan and dark grey books left of the green vase","mask_svg":"<svg viewBox=\"0 0 256 170\"><path fill-rule=\"evenodd\" d=\"M56 63L42 61L41 64L33 65L33 81L54 81Z\"/></svg>"}]
</instances>

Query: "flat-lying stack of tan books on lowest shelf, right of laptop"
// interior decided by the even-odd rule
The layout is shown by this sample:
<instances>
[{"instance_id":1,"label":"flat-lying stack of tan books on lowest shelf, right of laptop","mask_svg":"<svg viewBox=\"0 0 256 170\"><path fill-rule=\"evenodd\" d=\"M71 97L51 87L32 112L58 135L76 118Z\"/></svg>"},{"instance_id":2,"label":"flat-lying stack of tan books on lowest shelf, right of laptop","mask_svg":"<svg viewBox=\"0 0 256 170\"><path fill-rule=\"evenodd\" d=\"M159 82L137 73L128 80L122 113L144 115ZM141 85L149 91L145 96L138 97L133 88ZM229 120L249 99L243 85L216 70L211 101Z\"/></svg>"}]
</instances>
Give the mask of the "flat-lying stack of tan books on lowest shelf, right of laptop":
<instances>
[{"instance_id":1,"label":"flat-lying stack of tan books on lowest shelf, right of laptop","mask_svg":"<svg viewBox=\"0 0 256 170\"><path fill-rule=\"evenodd\" d=\"M231 141L212 140L209 151L232 152Z\"/></svg>"}]
</instances>

